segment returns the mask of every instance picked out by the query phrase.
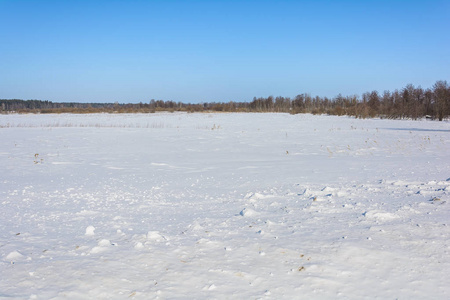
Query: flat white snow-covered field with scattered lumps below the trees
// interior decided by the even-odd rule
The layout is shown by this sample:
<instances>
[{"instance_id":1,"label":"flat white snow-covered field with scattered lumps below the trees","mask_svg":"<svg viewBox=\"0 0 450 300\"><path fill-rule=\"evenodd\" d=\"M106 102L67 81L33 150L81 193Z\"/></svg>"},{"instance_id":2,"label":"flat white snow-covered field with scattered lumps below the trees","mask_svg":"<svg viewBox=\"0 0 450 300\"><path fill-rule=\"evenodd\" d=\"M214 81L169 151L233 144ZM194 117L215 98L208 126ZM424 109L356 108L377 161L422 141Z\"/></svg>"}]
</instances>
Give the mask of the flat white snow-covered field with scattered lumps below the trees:
<instances>
[{"instance_id":1,"label":"flat white snow-covered field with scattered lumps below the trees","mask_svg":"<svg viewBox=\"0 0 450 300\"><path fill-rule=\"evenodd\" d=\"M0 298L445 299L450 123L0 115Z\"/></svg>"}]
</instances>

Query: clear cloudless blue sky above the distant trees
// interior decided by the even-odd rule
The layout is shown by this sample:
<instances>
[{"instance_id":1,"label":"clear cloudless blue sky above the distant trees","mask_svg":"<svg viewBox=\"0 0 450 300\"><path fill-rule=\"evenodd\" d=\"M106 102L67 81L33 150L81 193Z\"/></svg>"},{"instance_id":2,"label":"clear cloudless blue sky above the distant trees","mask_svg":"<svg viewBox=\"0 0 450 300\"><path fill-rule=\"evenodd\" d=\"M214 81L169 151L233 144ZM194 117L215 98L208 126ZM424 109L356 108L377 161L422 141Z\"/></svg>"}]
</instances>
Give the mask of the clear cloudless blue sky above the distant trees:
<instances>
[{"instance_id":1,"label":"clear cloudless blue sky above the distant trees","mask_svg":"<svg viewBox=\"0 0 450 300\"><path fill-rule=\"evenodd\" d=\"M450 81L450 1L0 0L0 98L334 97Z\"/></svg>"}]
</instances>

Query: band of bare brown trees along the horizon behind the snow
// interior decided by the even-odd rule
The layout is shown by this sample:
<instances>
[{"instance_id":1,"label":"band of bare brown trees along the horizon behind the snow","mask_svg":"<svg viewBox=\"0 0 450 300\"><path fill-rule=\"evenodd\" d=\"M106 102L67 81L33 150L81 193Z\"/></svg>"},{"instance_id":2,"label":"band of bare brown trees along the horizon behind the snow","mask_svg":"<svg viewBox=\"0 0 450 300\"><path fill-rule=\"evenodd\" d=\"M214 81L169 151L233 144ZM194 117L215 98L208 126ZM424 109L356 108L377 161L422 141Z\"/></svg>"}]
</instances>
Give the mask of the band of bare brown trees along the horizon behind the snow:
<instances>
[{"instance_id":1,"label":"band of bare brown trees along the horizon behind the snow","mask_svg":"<svg viewBox=\"0 0 450 300\"><path fill-rule=\"evenodd\" d=\"M206 102L201 104L164 100L148 103L77 103L42 100L2 100L2 113L152 113L157 111L187 112L284 112L347 115L358 118L382 117L391 119L419 119L423 117L442 121L450 116L450 86L439 80L431 88L423 89L412 84L400 90L365 92L361 96L334 98L312 97L299 94L290 97L254 97L250 102Z\"/></svg>"}]
</instances>

